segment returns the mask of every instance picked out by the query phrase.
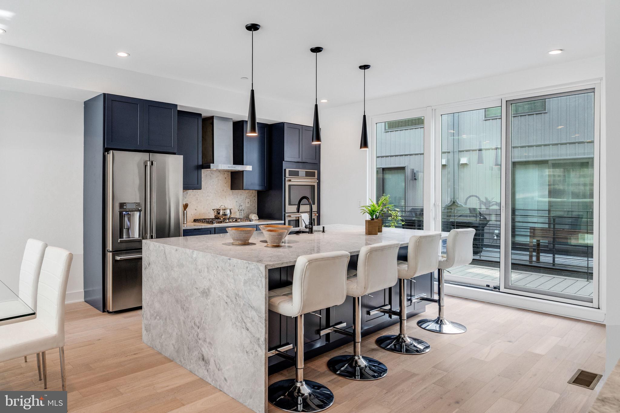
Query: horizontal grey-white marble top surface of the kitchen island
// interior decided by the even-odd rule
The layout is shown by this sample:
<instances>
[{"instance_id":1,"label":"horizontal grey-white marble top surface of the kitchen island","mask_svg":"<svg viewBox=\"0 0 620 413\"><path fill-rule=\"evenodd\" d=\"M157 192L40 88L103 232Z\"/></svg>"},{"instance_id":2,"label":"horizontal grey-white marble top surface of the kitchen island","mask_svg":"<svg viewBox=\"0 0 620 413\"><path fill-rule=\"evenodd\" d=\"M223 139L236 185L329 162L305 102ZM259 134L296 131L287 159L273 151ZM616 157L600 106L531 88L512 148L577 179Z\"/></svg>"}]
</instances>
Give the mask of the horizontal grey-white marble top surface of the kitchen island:
<instances>
[{"instance_id":1,"label":"horizontal grey-white marble top surface of the kitchen island","mask_svg":"<svg viewBox=\"0 0 620 413\"><path fill-rule=\"evenodd\" d=\"M281 248L267 247L265 237L260 232L255 232L252 235L250 245L232 245L231 238L227 233L198 235L197 237L157 238L143 242L154 242L249 261L250 263L262 264L268 269L294 265L301 255L332 251L347 251L350 254L358 254L361 247L365 245L385 241L398 241L403 246L409 243L409 238L412 235L423 233L428 233L428 231L383 228L383 232L378 235L366 235L364 227L361 225L334 224L325 225L325 232L288 235ZM447 232L443 232L441 235L442 238L448 237Z\"/></svg>"}]
</instances>

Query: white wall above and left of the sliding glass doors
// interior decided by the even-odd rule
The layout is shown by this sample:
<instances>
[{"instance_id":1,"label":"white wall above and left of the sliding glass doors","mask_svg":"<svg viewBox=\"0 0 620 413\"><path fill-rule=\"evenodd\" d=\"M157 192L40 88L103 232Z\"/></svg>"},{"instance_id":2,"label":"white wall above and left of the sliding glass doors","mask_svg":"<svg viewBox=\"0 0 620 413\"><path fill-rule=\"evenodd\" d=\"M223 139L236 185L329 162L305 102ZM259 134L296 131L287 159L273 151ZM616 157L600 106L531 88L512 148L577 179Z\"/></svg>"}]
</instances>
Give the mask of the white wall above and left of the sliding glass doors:
<instances>
[{"instance_id":1,"label":"white wall above and left of the sliding glass doors","mask_svg":"<svg viewBox=\"0 0 620 413\"><path fill-rule=\"evenodd\" d=\"M370 69L372 70L372 69ZM603 77L603 56L527 71L472 80L435 89L420 90L366 102L370 118L396 111L425 108L446 103L464 103L505 93L567 84ZM370 75L370 74L369 74ZM366 77L371 82L371 76ZM423 79L420 79L422 81ZM366 204L367 150L360 150L362 103L321 111L321 224L363 224L358 202ZM369 130L370 137L370 130Z\"/></svg>"}]
</instances>

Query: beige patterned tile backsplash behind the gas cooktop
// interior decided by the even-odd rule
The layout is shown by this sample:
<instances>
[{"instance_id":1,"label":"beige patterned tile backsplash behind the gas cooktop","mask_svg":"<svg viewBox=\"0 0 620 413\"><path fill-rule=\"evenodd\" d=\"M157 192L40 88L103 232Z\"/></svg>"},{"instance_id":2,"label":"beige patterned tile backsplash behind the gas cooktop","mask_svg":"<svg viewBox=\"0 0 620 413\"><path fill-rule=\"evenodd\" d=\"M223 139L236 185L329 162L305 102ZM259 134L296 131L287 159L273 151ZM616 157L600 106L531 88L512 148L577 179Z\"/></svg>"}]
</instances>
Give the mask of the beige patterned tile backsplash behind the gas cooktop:
<instances>
[{"instance_id":1,"label":"beige patterned tile backsplash behind the gas cooktop","mask_svg":"<svg viewBox=\"0 0 620 413\"><path fill-rule=\"evenodd\" d=\"M224 205L232 209L232 216L248 218L250 214L255 214L256 191L232 191L231 173L226 171L213 171L203 169L202 189L185 189L183 191L183 202L187 202L187 222L192 222L195 218L213 218L213 208ZM239 204L242 204L246 211L243 216L239 216Z\"/></svg>"}]
</instances>

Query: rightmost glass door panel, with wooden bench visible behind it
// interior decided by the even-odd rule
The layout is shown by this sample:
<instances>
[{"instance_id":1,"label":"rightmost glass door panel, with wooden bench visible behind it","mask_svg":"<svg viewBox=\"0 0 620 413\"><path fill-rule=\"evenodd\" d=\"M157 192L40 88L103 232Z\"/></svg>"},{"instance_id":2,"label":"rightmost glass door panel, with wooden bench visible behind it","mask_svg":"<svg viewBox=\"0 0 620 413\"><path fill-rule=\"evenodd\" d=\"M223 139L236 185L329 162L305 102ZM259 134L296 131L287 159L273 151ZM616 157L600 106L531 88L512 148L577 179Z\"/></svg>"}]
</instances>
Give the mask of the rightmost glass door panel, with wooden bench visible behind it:
<instances>
[{"instance_id":1,"label":"rightmost glass door panel, with wooden bench visible behind it","mask_svg":"<svg viewBox=\"0 0 620 413\"><path fill-rule=\"evenodd\" d=\"M594 89L506 102L506 292L598 300L595 107Z\"/></svg>"}]
</instances>

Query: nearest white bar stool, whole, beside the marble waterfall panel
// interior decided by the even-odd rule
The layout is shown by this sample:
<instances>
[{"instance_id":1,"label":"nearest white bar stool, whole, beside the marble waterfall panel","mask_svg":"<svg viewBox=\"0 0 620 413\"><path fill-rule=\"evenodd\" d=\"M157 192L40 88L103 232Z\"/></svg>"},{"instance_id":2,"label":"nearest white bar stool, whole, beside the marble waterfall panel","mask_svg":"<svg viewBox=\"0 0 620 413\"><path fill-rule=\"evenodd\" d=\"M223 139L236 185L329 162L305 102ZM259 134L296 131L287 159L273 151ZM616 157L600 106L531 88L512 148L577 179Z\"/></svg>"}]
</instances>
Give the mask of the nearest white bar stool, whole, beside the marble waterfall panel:
<instances>
[{"instance_id":1,"label":"nearest white bar stool, whole, beside the marble waterfall panel","mask_svg":"<svg viewBox=\"0 0 620 413\"><path fill-rule=\"evenodd\" d=\"M295 263L293 285L269 291L269 310L297 318L295 358L284 353L291 346L273 350L295 362L295 378L269 386L267 399L288 412L320 412L334 403L334 393L321 383L304 380L304 314L340 305L347 298L346 251L303 255Z\"/></svg>"}]
</instances>

